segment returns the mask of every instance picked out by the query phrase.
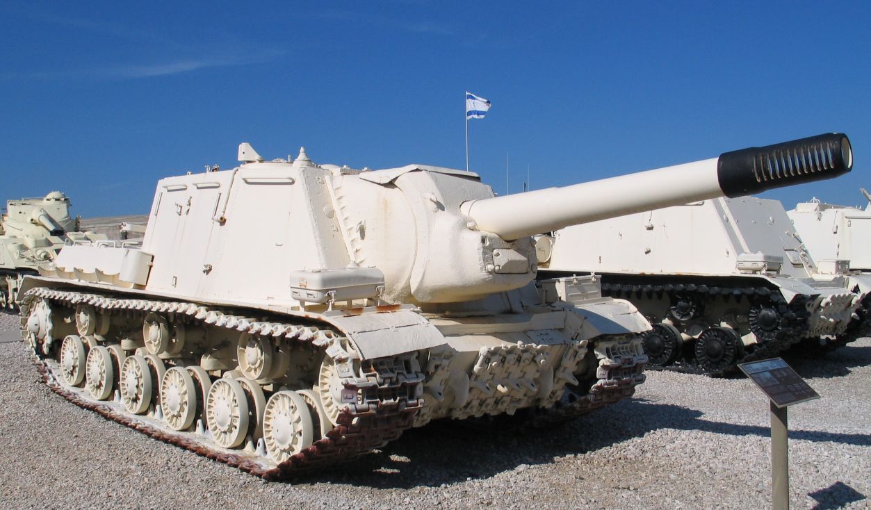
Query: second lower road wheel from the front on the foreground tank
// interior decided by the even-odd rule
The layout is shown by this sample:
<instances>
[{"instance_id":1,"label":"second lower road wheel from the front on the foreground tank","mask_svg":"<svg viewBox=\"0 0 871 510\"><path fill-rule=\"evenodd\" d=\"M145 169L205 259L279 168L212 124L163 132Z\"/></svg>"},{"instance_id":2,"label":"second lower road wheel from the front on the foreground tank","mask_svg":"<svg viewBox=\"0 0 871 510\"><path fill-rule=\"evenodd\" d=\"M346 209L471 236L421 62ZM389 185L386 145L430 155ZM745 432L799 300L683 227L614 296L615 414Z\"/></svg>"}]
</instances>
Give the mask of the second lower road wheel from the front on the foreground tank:
<instances>
[{"instance_id":1,"label":"second lower road wheel from the front on the foreground tank","mask_svg":"<svg viewBox=\"0 0 871 510\"><path fill-rule=\"evenodd\" d=\"M240 446L248 433L248 399L233 379L218 379L206 399L209 432L219 446Z\"/></svg>"}]
</instances>

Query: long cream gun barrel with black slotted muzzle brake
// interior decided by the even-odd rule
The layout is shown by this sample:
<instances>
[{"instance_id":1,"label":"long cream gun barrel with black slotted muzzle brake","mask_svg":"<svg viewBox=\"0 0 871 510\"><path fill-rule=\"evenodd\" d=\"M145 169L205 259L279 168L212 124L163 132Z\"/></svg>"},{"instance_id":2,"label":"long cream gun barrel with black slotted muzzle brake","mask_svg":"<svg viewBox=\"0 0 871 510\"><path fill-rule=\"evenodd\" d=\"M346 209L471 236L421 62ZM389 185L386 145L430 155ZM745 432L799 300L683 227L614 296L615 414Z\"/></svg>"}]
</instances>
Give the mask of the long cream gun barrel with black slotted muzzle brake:
<instances>
[{"instance_id":1,"label":"long cream gun barrel with black slotted muzzle brake","mask_svg":"<svg viewBox=\"0 0 871 510\"><path fill-rule=\"evenodd\" d=\"M510 240L635 212L834 178L852 167L847 136L827 133L579 185L470 200L461 211L478 230Z\"/></svg>"}]
</instances>

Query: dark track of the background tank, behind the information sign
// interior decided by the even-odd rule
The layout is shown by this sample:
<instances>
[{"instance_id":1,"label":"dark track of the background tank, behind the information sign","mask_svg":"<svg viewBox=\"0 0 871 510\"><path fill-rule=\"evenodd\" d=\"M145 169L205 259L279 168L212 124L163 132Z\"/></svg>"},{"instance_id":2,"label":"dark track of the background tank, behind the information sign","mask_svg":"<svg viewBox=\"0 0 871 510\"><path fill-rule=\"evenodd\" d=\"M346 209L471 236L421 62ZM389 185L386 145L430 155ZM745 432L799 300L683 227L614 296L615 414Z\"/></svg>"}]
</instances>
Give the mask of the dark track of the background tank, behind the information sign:
<instances>
[{"instance_id":1,"label":"dark track of the background tank, behind the information sign","mask_svg":"<svg viewBox=\"0 0 871 510\"><path fill-rule=\"evenodd\" d=\"M799 343L808 331L807 320L810 318L810 312L804 306L804 300L801 296L793 299L791 304L787 304L780 292L773 291L765 286L728 286L728 285L694 285L694 284L660 284L660 285L632 285L632 284L602 284L602 294L613 298L629 299L634 295L652 295L666 294L669 299L674 299L678 296L689 296L702 301L703 299L740 299L746 297L751 300L767 301L770 305L778 307L783 320L780 322L780 329L773 339L769 339L764 343L751 346L743 352L743 356L736 356L733 364L722 370L706 371L695 363L694 359L681 359L674 365L669 366L654 366L648 365L648 370L667 370L672 372L697 373L706 374L711 377L724 377L737 372L739 363L748 363L758 359L771 358L787 351L791 346Z\"/></svg>"}]
</instances>

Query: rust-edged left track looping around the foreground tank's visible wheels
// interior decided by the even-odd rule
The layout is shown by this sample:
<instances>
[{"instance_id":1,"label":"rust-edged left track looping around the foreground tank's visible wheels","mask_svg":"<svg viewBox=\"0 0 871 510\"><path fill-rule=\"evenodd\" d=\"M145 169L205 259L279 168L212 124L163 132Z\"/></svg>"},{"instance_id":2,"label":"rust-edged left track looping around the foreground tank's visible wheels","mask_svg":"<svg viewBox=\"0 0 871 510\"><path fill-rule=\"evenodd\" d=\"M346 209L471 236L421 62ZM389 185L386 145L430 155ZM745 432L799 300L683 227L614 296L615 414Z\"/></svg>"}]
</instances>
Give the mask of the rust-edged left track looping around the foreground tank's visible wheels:
<instances>
[{"instance_id":1,"label":"rust-edged left track looping around the foreground tank's visible wheels","mask_svg":"<svg viewBox=\"0 0 871 510\"><path fill-rule=\"evenodd\" d=\"M306 342L325 352L329 352L332 340L337 338L334 332L310 325L300 326L230 315L219 309L196 303L115 299L98 294L37 288L27 292L22 301L21 327L25 342L28 341L26 318L30 304L36 298L47 299L54 304L66 306L86 303L115 311L180 313L193 320L226 327L238 332L268 333L273 336L285 335L288 338ZM46 385L77 406L90 409L107 419L129 426L156 440L181 446L193 453L237 467L246 473L260 476L266 480L287 479L313 468L347 462L363 453L370 452L374 448L384 446L388 441L399 438L403 431L413 425L415 413L422 405L422 400L407 399L404 395L408 392L403 391L403 389L407 389L403 386L420 384L423 379L422 373L396 373L391 372L388 368L395 366L394 363L372 363L372 372L368 373L368 380L357 379L346 384L349 389L366 388L367 399L364 403L347 406L345 410L341 411L337 419L337 426L327 433L327 437L314 441L312 446L277 466L268 466L243 454L233 453L219 446L197 440L192 437L192 433L170 433L150 424L145 417L131 415L119 411L116 406L85 398L71 388L64 386L64 383L60 382L62 378L55 374L51 364L40 356L38 351L39 349L34 349L32 358L43 374ZM376 387L372 387L373 380L377 381Z\"/></svg>"}]
</instances>

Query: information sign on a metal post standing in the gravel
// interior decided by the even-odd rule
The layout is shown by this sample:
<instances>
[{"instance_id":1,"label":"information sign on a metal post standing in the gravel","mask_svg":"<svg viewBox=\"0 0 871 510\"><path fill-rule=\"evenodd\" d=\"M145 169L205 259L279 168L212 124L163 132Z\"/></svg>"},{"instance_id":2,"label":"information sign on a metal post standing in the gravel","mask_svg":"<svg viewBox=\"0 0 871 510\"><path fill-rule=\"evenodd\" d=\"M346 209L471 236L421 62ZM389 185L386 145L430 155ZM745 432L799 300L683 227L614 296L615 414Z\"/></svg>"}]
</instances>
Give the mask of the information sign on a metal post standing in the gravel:
<instances>
[{"instance_id":1,"label":"information sign on a metal post standing in the gravel","mask_svg":"<svg viewBox=\"0 0 871 510\"><path fill-rule=\"evenodd\" d=\"M787 406L819 399L798 373L780 358L739 364L741 372L760 387L771 400L771 487L772 508L789 508L789 430Z\"/></svg>"}]
</instances>

